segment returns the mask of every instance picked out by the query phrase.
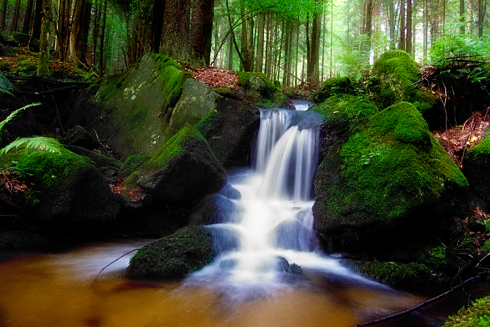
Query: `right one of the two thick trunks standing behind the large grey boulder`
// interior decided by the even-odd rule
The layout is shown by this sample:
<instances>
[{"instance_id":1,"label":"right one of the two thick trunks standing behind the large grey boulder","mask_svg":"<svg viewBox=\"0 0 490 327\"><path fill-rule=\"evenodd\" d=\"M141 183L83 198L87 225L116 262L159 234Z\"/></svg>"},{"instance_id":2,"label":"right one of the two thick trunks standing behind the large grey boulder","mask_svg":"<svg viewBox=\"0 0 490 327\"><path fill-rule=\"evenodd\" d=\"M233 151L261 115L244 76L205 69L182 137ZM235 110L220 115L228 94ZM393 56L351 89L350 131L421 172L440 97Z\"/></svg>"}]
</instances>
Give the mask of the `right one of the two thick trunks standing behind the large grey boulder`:
<instances>
[{"instance_id":1,"label":"right one of the two thick trunks standing behind the large grey boulder","mask_svg":"<svg viewBox=\"0 0 490 327\"><path fill-rule=\"evenodd\" d=\"M207 66L211 61L214 0L194 0L190 26L191 61Z\"/></svg>"}]
</instances>

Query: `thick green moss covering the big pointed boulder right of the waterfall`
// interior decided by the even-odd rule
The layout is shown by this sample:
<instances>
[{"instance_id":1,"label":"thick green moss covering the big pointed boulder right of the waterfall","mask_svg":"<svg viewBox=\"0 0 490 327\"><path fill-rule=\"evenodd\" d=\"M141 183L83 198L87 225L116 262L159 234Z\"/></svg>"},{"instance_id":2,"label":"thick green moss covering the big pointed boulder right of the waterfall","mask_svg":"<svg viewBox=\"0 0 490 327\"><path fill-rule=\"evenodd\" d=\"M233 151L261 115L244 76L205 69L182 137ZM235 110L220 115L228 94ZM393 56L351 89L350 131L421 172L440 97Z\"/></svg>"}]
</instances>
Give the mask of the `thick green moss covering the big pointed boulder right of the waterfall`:
<instances>
[{"instance_id":1,"label":"thick green moss covering the big pointed boulder right of the waterfall","mask_svg":"<svg viewBox=\"0 0 490 327\"><path fill-rule=\"evenodd\" d=\"M319 208L330 219L355 211L357 224L390 221L437 201L446 188L468 185L407 102L371 116L341 147L319 167L337 171L341 178L335 183L317 178L316 183Z\"/></svg>"}]
</instances>

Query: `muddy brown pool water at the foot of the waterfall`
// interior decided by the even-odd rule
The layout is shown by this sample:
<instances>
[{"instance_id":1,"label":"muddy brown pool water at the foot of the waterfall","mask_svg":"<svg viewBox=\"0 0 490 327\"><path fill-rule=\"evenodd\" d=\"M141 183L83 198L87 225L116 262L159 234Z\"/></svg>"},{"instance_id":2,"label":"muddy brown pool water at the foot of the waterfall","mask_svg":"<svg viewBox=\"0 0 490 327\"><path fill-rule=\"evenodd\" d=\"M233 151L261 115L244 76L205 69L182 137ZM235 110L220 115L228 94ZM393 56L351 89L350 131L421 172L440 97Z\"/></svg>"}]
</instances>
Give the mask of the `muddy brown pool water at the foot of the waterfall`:
<instances>
[{"instance_id":1,"label":"muddy brown pool water at the foot of the waterfall","mask_svg":"<svg viewBox=\"0 0 490 327\"><path fill-rule=\"evenodd\" d=\"M313 280L265 296L230 302L226 290L184 281L132 280L125 252L149 243L104 243L62 253L2 253L2 327L352 326L428 299L389 288ZM487 286L483 287L483 290ZM482 288L482 287L480 287ZM460 292L461 293L461 292ZM440 326L467 300L443 300L378 326ZM444 303L446 301L446 303Z\"/></svg>"}]
</instances>

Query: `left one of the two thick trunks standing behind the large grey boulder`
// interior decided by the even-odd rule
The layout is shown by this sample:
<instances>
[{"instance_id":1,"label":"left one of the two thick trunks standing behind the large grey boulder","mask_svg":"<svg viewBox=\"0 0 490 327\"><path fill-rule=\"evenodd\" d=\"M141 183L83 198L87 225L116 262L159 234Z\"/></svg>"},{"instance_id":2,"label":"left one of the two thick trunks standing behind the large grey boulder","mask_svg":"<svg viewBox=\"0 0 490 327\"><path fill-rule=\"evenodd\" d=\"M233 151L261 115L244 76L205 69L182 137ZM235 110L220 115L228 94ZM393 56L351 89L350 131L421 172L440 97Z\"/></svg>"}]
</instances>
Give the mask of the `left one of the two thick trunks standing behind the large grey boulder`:
<instances>
[{"instance_id":1,"label":"left one of the two thick trunks standing behind the large grey boulder","mask_svg":"<svg viewBox=\"0 0 490 327\"><path fill-rule=\"evenodd\" d=\"M167 0L163 19L162 53L175 60L189 59L191 1Z\"/></svg>"}]
</instances>

